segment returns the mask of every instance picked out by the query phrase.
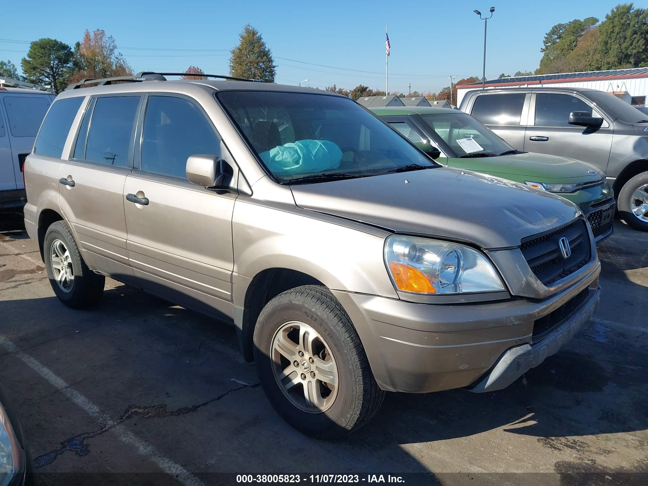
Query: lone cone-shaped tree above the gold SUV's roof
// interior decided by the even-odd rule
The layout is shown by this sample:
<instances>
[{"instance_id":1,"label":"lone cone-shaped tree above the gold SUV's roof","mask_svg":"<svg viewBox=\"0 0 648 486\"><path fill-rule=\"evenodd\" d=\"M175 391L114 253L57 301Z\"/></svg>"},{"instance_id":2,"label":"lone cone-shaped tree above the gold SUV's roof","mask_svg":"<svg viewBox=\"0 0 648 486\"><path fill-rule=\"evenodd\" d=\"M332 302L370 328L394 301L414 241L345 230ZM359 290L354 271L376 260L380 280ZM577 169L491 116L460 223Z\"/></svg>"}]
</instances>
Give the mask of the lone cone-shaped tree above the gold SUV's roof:
<instances>
[{"instance_id":1,"label":"lone cone-shaped tree above the gold SUV's roof","mask_svg":"<svg viewBox=\"0 0 648 486\"><path fill-rule=\"evenodd\" d=\"M231 50L229 74L237 78L275 82L277 66L259 30L248 24L238 38L237 47Z\"/></svg>"}]
</instances>

